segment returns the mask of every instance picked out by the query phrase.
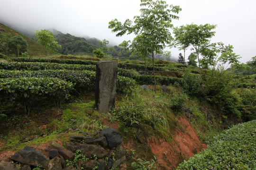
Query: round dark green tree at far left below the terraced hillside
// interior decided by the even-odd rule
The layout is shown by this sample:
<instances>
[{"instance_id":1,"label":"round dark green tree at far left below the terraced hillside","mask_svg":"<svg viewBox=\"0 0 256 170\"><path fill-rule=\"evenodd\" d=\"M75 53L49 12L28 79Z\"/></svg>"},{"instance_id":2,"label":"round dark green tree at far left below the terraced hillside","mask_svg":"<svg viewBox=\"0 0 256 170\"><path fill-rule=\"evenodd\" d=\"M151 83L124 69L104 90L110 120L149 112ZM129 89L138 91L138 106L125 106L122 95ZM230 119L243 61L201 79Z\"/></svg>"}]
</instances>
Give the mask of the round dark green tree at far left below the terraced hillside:
<instances>
[{"instance_id":1,"label":"round dark green tree at far left below the terraced hillside","mask_svg":"<svg viewBox=\"0 0 256 170\"><path fill-rule=\"evenodd\" d=\"M27 41L24 40L20 35L15 35L10 38L8 43L8 49L11 51L12 54L16 54L18 57L19 54L27 51Z\"/></svg>"}]
</instances>

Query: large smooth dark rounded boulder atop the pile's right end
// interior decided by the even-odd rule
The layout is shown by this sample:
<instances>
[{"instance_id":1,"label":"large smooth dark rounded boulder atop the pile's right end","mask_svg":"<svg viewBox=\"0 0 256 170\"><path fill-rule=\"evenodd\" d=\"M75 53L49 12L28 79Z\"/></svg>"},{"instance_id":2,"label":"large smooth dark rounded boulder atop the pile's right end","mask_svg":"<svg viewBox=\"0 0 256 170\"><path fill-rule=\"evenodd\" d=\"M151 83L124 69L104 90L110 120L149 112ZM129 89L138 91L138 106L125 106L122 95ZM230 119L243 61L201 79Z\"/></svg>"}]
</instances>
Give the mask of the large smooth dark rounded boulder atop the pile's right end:
<instances>
[{"instance_id":1,"label":"large smooth dark rounded boulder atop the pile's right end","mask_svg":"<svg viewBox=\"0 0 256 170\"><path fill-rule=\"evenodd\" d=\"M106 137L110 148L116 147L123 142L118 135L118 131L113 128L106 128L102 130L100 134Z\"/></svg>"}]
</instances>

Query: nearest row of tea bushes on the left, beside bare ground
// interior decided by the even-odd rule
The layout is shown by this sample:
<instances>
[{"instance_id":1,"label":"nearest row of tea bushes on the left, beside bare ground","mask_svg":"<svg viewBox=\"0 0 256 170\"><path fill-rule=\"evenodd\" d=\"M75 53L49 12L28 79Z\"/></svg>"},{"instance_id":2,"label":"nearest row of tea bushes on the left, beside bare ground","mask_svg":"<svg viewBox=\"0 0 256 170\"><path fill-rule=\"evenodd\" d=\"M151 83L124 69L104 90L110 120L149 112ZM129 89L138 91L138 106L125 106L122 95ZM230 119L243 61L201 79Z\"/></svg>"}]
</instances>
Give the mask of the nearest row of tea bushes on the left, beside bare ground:
<instances>
[{"instance_id":1,"label":"nearest row of tea bushes on the left, beside bare ground","mask_svg":"<svg viewBox=\"0 0 256 170\"><path fill-rule=\"evenodd\" d=\"M50 77L9 77L0 79L0 106L21 104L30 109L45 101L60 108L73 90L73 83ZM3 108L1 108L3 109Z\"/></svg>"}]
</instances>

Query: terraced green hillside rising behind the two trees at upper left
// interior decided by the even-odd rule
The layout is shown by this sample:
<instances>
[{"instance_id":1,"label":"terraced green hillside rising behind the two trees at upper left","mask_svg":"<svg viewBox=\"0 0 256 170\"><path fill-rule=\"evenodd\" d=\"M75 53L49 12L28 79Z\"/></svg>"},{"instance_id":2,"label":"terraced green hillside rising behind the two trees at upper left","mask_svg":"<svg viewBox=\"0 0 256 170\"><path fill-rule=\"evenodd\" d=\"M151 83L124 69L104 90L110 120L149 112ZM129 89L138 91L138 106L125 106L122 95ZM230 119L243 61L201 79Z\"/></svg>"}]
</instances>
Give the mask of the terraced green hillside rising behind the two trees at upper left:
<instances>
[{"instance_id":1,"label":"terraced green hillside rising behind the two trees at upper left","mask_svg":"<svg viewBox=\"0 0 256 170\"><path fill-rule=\"evenodd\" d=\"M0 34L9 33L12 36L14 35L20 35L22 36L28 43L28 53L31 57L43 57L47 55L47 50L44 46L37 43L36 41L28 38L27 36L19 33L18 31L15 31L8 26L5 26L3 24L0 24Z\"/></svg>"}]
</instances>

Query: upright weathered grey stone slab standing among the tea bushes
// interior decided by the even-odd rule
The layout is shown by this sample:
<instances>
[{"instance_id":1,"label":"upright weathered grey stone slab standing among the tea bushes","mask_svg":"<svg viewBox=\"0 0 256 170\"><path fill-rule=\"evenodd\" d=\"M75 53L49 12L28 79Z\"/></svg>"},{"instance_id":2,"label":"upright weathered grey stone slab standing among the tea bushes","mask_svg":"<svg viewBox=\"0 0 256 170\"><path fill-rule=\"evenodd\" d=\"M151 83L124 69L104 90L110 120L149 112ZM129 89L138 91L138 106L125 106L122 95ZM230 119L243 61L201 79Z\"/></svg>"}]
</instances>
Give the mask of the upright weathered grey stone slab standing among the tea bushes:
<instances>
[{"instance_id":1,"label":"upright weathered grey stone slab standing among the tea bushes","mask_svg":"<svg viewBox=\"0 0 256 170\"><path fill-rule=\"evenodd\" d=\"M107 113L115 107L117 68L116 61L96 63L95 104L100 113Z\"/></svg>"}]
</instances>

